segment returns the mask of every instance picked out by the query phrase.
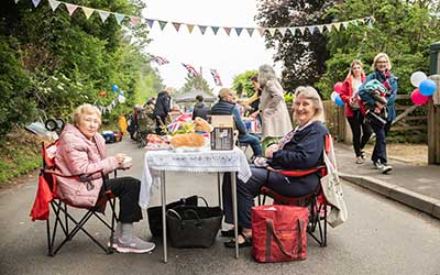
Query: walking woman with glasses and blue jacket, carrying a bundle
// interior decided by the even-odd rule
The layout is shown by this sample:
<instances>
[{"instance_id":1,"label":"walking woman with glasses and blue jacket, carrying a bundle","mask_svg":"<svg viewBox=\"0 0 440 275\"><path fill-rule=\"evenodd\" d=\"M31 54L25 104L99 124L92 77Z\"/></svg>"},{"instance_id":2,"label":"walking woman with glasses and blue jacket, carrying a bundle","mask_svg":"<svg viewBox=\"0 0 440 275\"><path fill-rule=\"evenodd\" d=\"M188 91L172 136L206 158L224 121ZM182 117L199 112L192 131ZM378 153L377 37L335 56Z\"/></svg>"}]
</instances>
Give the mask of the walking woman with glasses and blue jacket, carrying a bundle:
<instances>
[{"instance_id":1,"label":"walking woman with glasses and blue jacket, carrying a bundle","mask_svg":"<svg viewBox=\"0 0 440 275\"><path fill-rule=\"evenodd\" d=\"M386 113L385 124L374 122L370 124L376 134L376 142L371 160L373 165L380 169L381 173L387 174L393 169L393 167L387 164L386 136L392 127L393 120L396 118L394 102L397 97L397 77L389 72L392 69L392 63L388 55L385 53L380 53L374 57L373 68L374 72L366 77L364 84L359 88L359 96L366 105L372 107L371 110L367 111L373 112L373 117L377 117L375 114ZM386 103L383 103L381 100L375 100L373 95L366 88L369 82L374 79L381 82L385 88Z\"/></svg>"}]
</instances>

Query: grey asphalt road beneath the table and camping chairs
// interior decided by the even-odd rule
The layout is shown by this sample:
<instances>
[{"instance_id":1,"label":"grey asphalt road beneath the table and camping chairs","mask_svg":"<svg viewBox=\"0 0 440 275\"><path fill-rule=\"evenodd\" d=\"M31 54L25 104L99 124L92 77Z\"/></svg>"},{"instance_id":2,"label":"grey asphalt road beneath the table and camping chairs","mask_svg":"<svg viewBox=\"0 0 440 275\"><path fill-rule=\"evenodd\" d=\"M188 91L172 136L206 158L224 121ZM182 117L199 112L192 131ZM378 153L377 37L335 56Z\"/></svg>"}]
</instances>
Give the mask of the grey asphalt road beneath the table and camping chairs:
<instances>
[{"instance_id":1,"label":"grey asphalt road beneath the table and camping chairs","mask_svg":"<svg viewBox=\"0 0 440 275\"><path fill-rule=\"evenodd\" d=\"M133 176L141 175L143 151L123 141L109 146L134 160ZM168 199L193 194L217 202L215 174L167 174ZM350 219L329 229L328 246L308 240L304 262L257 264L251 250L233 258L219 238L211 249L169 249L162 263L162 245L152 254L103 254L79 233L56 257L46 256L45 223L31 222L29 210L36 190L36 175L20 186L0 190L0 274L408 274L440 275L440 221L361 187L344 187ZM212 183L210 185L209 183ZM158 204L158 193L153 205ZM147 238L146 220L136 227ZM101 240L106 232L97 223L91 231Z\"/></svg>"}]
</instances>

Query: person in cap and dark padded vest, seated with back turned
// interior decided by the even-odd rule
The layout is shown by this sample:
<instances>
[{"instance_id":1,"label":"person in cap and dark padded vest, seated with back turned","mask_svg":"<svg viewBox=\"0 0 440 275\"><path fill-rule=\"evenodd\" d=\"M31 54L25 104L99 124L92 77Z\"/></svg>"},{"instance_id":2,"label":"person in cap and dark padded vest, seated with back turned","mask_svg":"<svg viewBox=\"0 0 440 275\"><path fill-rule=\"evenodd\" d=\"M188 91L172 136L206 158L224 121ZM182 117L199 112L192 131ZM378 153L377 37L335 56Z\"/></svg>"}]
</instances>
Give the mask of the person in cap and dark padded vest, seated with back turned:
<instances>
[{"instance_id":1,"label":"person in cap and dark padded vest, seated with back turned","mask_svg":"<svg viewBox=\"0 0 440 275\"><path fill-rule=\"evenodd\" d=\"M246 133L246 127L240 117L240 109L237 107L235 92L229 88L222 88L219 91L219 101L212 106L211 114L233 116L235 129L239 131L239 141L249 143L254 152L254 156L262 156L263 151L258 138Z\"/></svg>"}]
</instances>

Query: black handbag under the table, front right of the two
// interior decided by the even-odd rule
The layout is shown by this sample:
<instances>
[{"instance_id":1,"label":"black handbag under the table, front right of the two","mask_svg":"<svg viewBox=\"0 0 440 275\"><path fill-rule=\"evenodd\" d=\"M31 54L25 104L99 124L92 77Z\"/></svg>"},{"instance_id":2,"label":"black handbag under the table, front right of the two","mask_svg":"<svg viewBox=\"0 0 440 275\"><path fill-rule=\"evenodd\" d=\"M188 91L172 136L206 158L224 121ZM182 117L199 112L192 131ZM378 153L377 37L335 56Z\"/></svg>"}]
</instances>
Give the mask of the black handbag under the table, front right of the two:
<instances>
[{"instance_id":1,"label":"black handbag under the table, front right of the two","mask_svg":"<svg viewBox=\"0 0 440 275\"><path fill-rule=\"evenodd\" d=\"M172 246L212 246L222 219L220 207L178 206L169 209L166 222Z\"/></svg>"}]
</instances>

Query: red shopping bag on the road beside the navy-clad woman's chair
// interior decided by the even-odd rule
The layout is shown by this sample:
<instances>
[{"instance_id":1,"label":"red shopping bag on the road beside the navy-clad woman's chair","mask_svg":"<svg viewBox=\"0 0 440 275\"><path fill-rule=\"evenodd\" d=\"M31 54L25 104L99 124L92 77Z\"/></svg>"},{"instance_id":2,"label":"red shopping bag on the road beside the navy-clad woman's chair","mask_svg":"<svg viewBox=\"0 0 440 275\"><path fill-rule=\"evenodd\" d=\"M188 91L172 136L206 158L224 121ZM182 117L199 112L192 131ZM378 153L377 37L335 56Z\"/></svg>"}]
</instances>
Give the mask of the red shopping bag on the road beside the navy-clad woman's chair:
<instances>
[{"instance_id":1,"label":"red shopping bag on the road beside the navy-clad woman's chair","mask_svg":"<svg viewBox=\"0 0 440 275\"><path fill-rule=\"evenodd\" d=\"M252 256L256 262L274 263L307 258L307 207L253 207Z\"/></svg>"}]
</instances>

